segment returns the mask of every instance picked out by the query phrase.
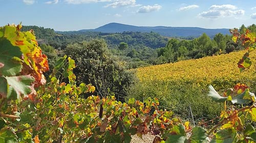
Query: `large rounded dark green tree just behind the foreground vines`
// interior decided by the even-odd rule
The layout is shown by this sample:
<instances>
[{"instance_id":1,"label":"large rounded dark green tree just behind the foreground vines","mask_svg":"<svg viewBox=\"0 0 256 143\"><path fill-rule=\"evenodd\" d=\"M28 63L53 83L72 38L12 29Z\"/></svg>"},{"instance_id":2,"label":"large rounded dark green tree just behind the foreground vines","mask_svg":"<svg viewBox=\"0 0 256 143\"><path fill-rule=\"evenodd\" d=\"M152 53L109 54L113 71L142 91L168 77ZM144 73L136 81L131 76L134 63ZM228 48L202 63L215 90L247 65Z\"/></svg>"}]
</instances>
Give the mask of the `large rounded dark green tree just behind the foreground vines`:
<instances>
[{"instance_id":1,"label":"large rounded dark green tree just behind the foreground vines","mask_svg":"<svg viewBox=\"0 0 256 143\"><path fill-rule=\"evenodd\" d=\"M125 88L133 83L133 74L126 70L124 62L110 54L104 40L69 44L65 53L76 62L74 74L78 83L92 83L95 94L101 97L115 95L124 100Z\"/></svg>"}]
</instances>

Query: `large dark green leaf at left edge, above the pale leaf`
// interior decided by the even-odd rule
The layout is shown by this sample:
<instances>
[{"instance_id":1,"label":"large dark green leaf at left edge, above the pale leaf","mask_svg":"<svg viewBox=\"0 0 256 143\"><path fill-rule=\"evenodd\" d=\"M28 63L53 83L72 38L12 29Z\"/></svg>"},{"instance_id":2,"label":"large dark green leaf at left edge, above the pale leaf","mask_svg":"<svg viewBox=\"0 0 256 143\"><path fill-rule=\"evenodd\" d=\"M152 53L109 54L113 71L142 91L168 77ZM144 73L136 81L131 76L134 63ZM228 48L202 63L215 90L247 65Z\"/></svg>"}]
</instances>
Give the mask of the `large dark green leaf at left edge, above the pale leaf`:
<instances>
[{"instance_id":1,"label":"large dark green leaf at left edge, above the pale leaf","mask_svg":"<svg viewBox=\"0 0 256 143\"><path fill-rule=\"evenodd\" d=\"M22 56L19 47L13 46L7 39L0 39L0 76L15 76L22 71Z\"/></svg>"}]
</instances>

